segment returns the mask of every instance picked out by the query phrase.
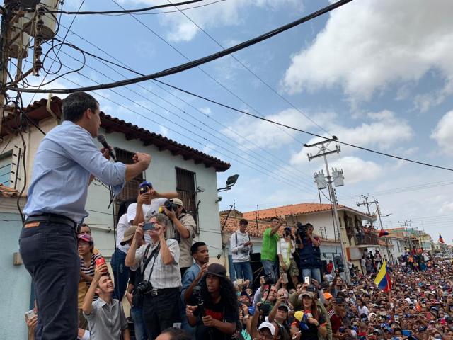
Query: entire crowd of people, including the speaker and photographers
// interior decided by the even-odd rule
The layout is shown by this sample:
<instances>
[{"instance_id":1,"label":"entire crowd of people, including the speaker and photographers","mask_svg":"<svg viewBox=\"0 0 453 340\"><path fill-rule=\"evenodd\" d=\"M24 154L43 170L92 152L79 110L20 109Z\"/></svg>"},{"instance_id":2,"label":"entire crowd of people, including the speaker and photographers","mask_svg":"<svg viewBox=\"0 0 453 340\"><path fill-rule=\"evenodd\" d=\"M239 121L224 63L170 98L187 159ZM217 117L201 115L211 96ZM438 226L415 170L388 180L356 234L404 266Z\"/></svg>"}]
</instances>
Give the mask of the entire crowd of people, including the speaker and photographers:
<instances>
[{"instance_id":1,"label":"entire crowd of people, including the speaker and photographers","mask_svg":"<svg viewBox=\"0 0 453 340\"><path fill-rule=\"evenodd\" d=\"M193 242L195 220L178 193L159 193L149 181L118 211L110 274L83 223L88 185L97 177L117 194L151 157L109 162L109 149L99 152L92 140L99 112L89 94L69 95L62 125L38 147L19 241L36 297L25 313L28 339L453 339L451 263L422 249L396 263L370 252L361 268L346 263L348 285L343 263L324 268L311 224L273 218L253 273L241 220L230 239L230 280L225 266L210 263L207 244ZM374 282L383 268L385 291Z\"/></svg>"}]
</instances>

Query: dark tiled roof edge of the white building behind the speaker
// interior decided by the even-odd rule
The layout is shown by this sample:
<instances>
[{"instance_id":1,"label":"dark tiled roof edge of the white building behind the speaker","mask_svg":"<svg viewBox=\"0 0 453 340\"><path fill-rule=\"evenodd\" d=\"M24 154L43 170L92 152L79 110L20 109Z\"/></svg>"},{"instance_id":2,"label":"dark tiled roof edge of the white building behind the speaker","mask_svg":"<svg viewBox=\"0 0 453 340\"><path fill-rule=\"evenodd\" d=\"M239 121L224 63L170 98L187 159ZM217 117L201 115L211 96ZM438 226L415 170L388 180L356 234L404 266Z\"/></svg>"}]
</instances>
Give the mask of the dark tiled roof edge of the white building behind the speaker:
<instances>
[{"instance_id":1,"label":"dark tiled roof edge of the white building behind the speaker","mask_svg":"<svg viewBox=\"0 0 453 340\"><path fill-rule=\"evenodd\" d=\"M50 113L47 112L46 105L47 99L42 98L40 101L35 101L33 104L27 106L24 111L27 113L28 118L32 119L35 123L38 123L40 120L50 117ZM61 117L62 99L56 96L52 97L50 108L55 115L57 115L57 117ZM17 114L13 113L6 116L1 125L1 137L13 133L13 130L9 127L16 128L16 118ZM144 128L139 128L137 125L127 123L125 120L112 117L103 112L101 112L101 126L105 129L106 133L123 133L126 140L141 140L145 146L155 145L160 151L169 150L173 155L180 154L184 157L184 159L193 159L195 164L202 163L205 164L206 167L212 166L216 169L216 171L226 171L230 168L229 163L223 162L217 157L212 157L209 154L193 149L193 147L180 144L160 134L150 132Z\"/></svg>"}]
</instances>

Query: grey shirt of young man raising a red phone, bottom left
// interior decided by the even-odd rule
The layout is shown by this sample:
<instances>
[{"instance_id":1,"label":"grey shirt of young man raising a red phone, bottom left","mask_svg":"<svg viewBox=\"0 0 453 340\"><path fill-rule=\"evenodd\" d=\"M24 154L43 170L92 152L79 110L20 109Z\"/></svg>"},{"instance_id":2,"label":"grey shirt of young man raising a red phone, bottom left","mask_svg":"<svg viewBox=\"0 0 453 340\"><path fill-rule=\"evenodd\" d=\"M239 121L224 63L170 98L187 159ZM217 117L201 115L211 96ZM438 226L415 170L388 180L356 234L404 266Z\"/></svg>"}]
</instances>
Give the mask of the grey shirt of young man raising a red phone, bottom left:
<instances>
[{"instance_id":1,"label":"grey shirt of young man raising a red phone, bottom left","mask_svg":"<svg viewBox=\"0 0 453 340\"><path fill-rule=\"evenodd\" d=\"M91 303L90 314L85 314L90 327L91 340L118 340L124 329L127 329L127 319L122 305L117 299L112 299L110 305L98 298Z\"/></svg>"}]
</instances>

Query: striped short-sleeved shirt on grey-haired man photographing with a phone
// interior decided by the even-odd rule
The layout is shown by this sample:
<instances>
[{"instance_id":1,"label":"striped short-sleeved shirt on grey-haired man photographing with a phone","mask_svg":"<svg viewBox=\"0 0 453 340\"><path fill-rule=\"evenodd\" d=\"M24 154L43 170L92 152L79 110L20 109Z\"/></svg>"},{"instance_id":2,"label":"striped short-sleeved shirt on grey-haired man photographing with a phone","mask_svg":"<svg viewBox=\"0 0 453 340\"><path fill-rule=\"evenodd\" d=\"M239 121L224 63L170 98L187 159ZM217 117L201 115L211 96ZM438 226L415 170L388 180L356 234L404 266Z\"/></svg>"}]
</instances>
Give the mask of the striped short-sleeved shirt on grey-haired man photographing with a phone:
<instances>
[{"instance_id":1,"label":"striped short-sleeved shirt on grey-haired man photographing with a phone","mask_svg":"<svg viewBox=\"0 0 453 340\"><path fill-rule=\"evenodd\" d=\"M181 272L179 269L179 244L176 239L167 239L166 244L168 249L170 249L171 255L173 256L173 261L166 265L162 262L161 251L156 257L156 262L154 263L154 269L149 279L149 273L151 268L153 268L154 259L149 261L147 268L144 271L144 280L150 280L153 288L164 289L164 288L179 288L181 287ZM155 244L150 244L150 249L148 251L147 257L151 256L151 253L159 245L159 241ZM144 244L137 251L135 251L135 266L131 267L132 271L136 271L140 268L143 271L144 265L144 253L147 249L148 244Z\"/></svg>"}]
</instances>

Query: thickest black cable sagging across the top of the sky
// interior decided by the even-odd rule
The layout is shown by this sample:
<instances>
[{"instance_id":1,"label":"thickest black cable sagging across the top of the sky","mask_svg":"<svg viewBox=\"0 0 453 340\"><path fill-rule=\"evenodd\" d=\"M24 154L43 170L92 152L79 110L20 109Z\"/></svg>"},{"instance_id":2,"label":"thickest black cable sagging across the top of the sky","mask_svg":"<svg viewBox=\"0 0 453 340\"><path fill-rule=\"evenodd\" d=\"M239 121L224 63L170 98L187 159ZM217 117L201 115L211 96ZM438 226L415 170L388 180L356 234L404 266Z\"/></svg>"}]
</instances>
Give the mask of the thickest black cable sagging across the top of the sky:
<instances>
[{"instance_id":1,"label":"thickest black cable sagging across the top of the sky","mask_svg":"<svg viewBox=\"0 0 453 340\"><path fill-rule=\"evenodd\" d=\"M114 0L112 0L115 2ZM280 26L279 28L275 28L274 30L271 30L267 33L264 33L256 38L252 38L250 40L247 40L245 42L241 42L238 45L234 45L232 47L229 47L225 50L222 50L220 52L213 53L212 55L207 55L206 57L199 58L197 60L193 60L190 62L186 62L185 64L180 64L176 67L171 67L169 69L164 69L163 71L156 72L154 74L149 74L144 77L135 77L132 79L127 79L123 81L115 81L113 83L108 83L108 84L101 84L101 85L95 85L95 86L85 86L85 87L80 87L80 88L75 88L75 89L19 89L11 86L6 86L6 89L12 90L12 91L21 91L21 92L36 92L40 94L48 94L48 93L53 93L53 94L70 94L74 93L77 91L95 91L95 90L101 90L101 89L113 89L115 87L120 87L120 86L125 86L125 85L130 85L130 84L135 84L140 81L146 81L149 79L156 79L159 77L166 77L171 74L176 74L179 72L186 71L188 69L193 69L194 67L198 67L202 64L206 64L207 62L212 62L213 60L217 60L221 57L224 57L225 55L229 55L231 53L237 52L239 50L243 50L244 48L251 47L252 45L258 44L258 42L262 42L264 40L268 40L269 38L272 38L275 35L278 35L280 33L285 32L286 30L289 30L290 28L294 28L295 26L298 26L302 23L305 23L306 21L310 21L311 19L314 19L318 16L321 16L325 13L328 13L330 11L333 11L333 9L336 9L340 6L344 6L345 4L348 4L352 0L340 0L337 1L334 4L331 4L329 6L326 6L324 8L321 8L319 11L316 11L314 13L309 14L308 16L304 16L303 18L299 18L297 21L293 21L292 23L287 23L284 26ZM120 5L118 5L120 6ZM131 14L132 15L132 14ZM135 18L138 20L137 18Z\"/></svg>"}]
</instances>

